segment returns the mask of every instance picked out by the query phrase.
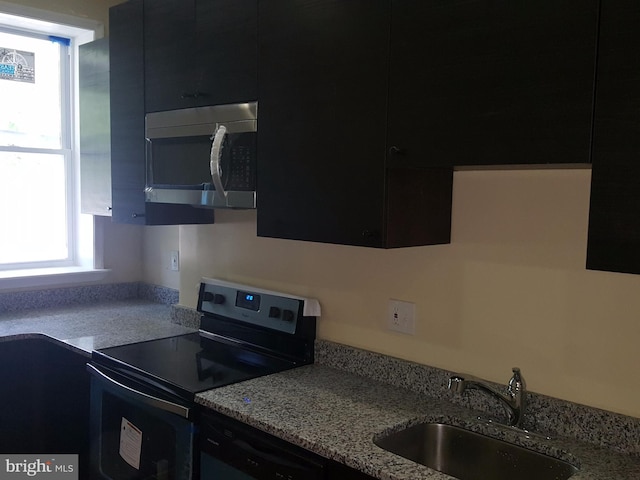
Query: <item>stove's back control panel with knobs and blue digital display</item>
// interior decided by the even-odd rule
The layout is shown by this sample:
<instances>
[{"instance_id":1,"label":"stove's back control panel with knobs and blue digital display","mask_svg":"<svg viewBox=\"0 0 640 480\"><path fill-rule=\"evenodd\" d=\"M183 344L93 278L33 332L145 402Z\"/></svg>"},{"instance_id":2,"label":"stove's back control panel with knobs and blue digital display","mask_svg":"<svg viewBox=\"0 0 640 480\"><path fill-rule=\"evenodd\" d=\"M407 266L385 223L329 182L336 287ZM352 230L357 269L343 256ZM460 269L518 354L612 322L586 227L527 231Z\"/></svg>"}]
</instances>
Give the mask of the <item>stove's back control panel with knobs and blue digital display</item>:
<instances>
[{"instance_id":1,"label":"stove's back control panel with knobs and blue digital display","mask_svg":"<svg viewBox=\"0 0 640 480\"><path fill-rule=\"evenodd\" d=\"M319 316L317 300L203 278L198 311L294 334L303 316Z\"/></svg>"}]
</instances>

